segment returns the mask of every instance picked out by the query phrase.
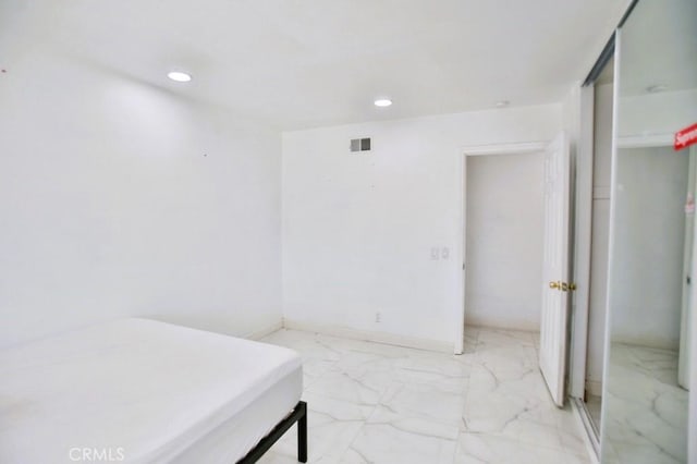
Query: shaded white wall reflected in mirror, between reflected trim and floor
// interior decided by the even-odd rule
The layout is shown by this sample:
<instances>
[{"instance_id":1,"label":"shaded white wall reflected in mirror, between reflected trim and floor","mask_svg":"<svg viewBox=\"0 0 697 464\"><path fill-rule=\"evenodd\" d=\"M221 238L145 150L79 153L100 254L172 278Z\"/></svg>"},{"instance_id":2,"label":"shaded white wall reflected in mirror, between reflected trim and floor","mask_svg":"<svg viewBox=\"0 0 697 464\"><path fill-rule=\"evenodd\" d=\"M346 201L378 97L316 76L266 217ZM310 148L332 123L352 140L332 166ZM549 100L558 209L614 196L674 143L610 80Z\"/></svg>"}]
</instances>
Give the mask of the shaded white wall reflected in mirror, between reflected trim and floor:
<instances>
[{"instance_id":1,"label":"shaded white wall reflected in mirror, between reflected trim and floor","mask_svg":"<svg viewBox=\"0 0 697 464\"><path fill-rule=\"evenodd\" d=\"M677 349L687 167L672 147L617 151L612 342Z\"/></svg>"}]
</instances>

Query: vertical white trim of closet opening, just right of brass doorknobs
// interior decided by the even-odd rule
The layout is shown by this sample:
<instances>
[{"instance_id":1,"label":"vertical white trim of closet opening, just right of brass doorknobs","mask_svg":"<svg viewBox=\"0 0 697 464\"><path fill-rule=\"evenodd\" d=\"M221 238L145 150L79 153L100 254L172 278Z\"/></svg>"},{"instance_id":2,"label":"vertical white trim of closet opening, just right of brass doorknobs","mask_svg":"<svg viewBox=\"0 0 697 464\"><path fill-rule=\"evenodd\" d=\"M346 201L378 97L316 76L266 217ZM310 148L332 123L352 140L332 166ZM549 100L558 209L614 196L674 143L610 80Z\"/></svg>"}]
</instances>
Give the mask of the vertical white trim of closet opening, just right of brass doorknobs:
<instances>
[{"instance_id":1,"label":"vertical white trim of closet opening, just right of brass doorknobs","mask_svg":"<svg viewBox=\"0 0 697 464\"><path fill-rule=\"evenodd\" d=\"M592 247L592 166L595 87L580 87L579 136L576 146L576 195L574 205L575 249L572 337L570 347L568 394L584 398L588 356L588 317L590 301L590 254Z\"/></svg>"}]
</instances>

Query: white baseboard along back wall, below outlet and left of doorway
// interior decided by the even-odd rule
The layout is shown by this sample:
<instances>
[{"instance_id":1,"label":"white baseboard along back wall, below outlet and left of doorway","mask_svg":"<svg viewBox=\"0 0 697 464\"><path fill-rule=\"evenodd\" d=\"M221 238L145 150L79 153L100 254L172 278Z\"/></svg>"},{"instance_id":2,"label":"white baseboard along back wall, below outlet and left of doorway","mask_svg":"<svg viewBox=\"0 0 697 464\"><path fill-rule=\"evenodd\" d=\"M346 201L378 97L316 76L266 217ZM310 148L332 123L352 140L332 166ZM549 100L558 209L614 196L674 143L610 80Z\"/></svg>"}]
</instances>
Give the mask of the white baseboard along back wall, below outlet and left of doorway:
<instances>
[{"instance_id":1,"label":"white baseboard along back wall, below outlet and left of doorway","mask_svg":"<svg viewBox=\"0 0 697 464\"><path fill-rule=\"evenodd\" d=\"M291 330L323 333L326 335L342 337L344 339L362 340L366 342L383 343L396 346L406 346L417 350L436 351L439 353L452 354L454 350L453 343L441 342L438 340L395 335L393 333L375 332L368 330L357 330L341 326L326 326L321 323L305 322L286 318L283 318L283 327Z\"/></svg>"}]
</instances>

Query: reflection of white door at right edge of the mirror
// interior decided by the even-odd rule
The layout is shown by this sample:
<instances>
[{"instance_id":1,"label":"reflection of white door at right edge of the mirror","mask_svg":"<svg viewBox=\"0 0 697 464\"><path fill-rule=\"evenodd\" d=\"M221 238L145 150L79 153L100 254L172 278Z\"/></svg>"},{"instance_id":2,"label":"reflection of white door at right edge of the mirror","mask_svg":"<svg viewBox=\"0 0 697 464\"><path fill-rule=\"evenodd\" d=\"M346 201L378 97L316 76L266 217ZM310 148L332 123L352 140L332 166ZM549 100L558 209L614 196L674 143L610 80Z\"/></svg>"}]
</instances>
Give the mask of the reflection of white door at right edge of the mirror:
<instances>
[{"instance_id":1,"label":"reflection of white door at right edge of the mirror","mask_svg":"<svg viewBox=\"0 0 697 464\"><path fill-rule=\"evenodd\" d=\"M677 363L677 383L685 390L689 390L689 347L692 340L692 285L697 277L693 268L693 242L695 233L695 169L697 151L693 147L689 152L689 169L687 178L687 202L685 204L685 248L683 262L683 312L680 325L680 352ZM690 207L692 200L692 207Z\"/></svg>"}]
</instances>

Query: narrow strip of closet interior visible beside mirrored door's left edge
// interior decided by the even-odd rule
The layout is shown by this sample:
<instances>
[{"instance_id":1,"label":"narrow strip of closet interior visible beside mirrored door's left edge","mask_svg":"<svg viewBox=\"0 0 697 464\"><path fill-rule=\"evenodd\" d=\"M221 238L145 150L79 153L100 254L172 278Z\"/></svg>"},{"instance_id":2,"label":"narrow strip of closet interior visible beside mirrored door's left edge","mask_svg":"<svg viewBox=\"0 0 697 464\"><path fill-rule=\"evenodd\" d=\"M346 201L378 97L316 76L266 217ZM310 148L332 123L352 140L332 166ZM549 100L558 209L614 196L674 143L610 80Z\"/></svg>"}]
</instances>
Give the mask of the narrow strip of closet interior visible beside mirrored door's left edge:
<instances>
[{"instance_id":1,"label":"narrow strip of closet interior visible beside mirrored door's left edge","mask_svg":"<svg viewBox=\"0 0 697 464\"><path fill-rule=\"evenodd\" d=\"M592 394L600 394L606 341L608 253L610 239L610 185L612 162L613 84L595 88L592 232L588 356L586 380Z\"/></svg>"}]
</instances>

